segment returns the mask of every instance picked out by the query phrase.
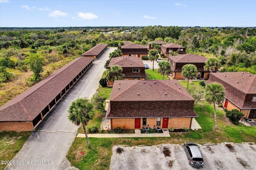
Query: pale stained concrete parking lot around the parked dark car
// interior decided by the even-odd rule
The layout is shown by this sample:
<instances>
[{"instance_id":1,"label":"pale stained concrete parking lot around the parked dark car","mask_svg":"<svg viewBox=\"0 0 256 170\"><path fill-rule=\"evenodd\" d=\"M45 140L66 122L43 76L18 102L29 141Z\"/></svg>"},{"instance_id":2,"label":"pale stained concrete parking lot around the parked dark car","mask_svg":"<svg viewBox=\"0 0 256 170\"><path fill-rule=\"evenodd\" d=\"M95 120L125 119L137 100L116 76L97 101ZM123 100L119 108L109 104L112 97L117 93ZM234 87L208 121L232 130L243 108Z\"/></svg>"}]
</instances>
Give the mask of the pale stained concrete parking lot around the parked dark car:
<instances>
[{"instance_id":1,"label":"pale stained concrete parking lot around the parked dark car","mask_svg":"<svg viewBox=\"0 0 256 170\"><path fill-rule=\"evenodd\" d=\"M255 170L256 145L198 145L207 170ZM194 170L182 145L114 146L110 170Z\"/></svg>"}]
</instances>

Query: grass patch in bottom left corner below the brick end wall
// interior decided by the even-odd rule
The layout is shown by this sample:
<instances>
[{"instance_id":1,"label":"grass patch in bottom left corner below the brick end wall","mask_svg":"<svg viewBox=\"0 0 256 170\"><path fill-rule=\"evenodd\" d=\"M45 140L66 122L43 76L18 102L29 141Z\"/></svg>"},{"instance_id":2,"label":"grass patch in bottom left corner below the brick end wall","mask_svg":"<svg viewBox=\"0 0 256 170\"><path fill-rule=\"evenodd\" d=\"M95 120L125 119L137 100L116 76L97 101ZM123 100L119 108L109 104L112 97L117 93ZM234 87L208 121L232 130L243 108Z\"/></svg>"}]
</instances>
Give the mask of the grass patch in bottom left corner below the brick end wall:
<instances>
[{"instance_id":1,"label":"grass patch in bottom left corner below the brick end wall","mask_svg":"<svg viewBox=\"0 0 256 170\"><path fill-rule=\"evenodd\" d=\"M12 160L32 132L0 131L0 160ZM0 170L6 165L0 164Z\"/></svg>"}]
</instances>

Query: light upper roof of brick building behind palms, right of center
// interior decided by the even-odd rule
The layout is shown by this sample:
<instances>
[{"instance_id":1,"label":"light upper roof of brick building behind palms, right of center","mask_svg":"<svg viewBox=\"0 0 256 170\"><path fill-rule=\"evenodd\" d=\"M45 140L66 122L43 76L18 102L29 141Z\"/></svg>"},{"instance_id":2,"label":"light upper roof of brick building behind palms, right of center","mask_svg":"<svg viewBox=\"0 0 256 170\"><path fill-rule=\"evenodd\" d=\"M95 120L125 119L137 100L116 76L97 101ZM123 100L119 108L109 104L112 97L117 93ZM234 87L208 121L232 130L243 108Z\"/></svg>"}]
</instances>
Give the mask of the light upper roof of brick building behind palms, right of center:
<instances>
[{"instance_id":1,"label":"light upper roof of brick building behind palms, right of center","mask_svg":"<svg viewBox=\"0 0 256 170\"><path fill-rule=\"evenodd\" d=\"M175 63L205 63L208 59L196 54L174 55L168 57Z\"/></svg>"}]
</instances>

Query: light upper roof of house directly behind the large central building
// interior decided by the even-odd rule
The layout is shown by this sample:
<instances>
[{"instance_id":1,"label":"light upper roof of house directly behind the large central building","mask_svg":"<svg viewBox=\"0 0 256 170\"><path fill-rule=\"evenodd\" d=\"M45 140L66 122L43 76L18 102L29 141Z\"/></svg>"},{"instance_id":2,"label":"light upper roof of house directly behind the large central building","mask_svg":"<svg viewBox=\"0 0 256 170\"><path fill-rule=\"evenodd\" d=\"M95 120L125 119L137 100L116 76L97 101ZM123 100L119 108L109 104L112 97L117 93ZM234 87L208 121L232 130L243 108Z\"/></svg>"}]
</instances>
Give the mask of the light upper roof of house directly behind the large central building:
<instances>
[{"instance_id":1,"label":"light upper roof of house directly behind the large central building","mask_svg":"<svg viewBox=\"0 0 256 170\"><path fill-rule=\"evenodd\" d=\"M118 65L120 67L144 67L141 58L130 56L112 58L108 64L108 67L112 65Z\"/></svg>"}]
</instances>

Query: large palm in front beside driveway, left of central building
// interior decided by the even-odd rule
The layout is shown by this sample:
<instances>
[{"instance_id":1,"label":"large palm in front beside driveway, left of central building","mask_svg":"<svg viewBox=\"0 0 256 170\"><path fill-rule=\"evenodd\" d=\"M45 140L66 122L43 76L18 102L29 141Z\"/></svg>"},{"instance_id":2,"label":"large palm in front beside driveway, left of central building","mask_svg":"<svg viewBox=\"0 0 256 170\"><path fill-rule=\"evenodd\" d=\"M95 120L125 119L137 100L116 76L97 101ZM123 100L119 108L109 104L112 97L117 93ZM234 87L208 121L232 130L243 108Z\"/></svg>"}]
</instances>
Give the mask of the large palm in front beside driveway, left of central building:
<instances>
[{"instance_id":1,"label":"large palm in front beside driveway, left of central building","mask_svg":"<svg viewBox=\"0 0 256 170\"><path fill-rule=\"evenodd\" d=\"M68 107L68 119L77 126L83 125L87 147L90 148L86 125L94 116L94 105L86 98L78 98Z\"/></svg>"}]
</instances>

